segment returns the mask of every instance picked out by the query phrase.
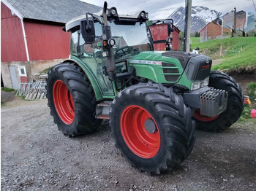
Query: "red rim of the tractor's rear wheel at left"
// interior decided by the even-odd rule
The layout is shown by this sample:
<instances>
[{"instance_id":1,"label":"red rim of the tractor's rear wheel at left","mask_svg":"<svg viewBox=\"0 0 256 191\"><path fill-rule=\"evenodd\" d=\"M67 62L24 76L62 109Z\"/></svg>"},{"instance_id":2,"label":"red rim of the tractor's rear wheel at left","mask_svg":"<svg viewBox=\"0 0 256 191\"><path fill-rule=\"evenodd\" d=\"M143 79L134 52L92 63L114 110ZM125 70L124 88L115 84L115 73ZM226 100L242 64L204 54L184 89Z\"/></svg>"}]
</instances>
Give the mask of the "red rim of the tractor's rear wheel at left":
<instances>
[{"instance_id":1,"label":"red rim of the tractor's rear wheel at left","mask_svg":"<svg viewBox=\"0 0 256 191\"><path fill-rule=\"evenodd\" d=\"M61 80L57 80L53 85L53 101L61 120L70 125L74 120L75 107L67 85Z\"/></svg>"}]
</instances>

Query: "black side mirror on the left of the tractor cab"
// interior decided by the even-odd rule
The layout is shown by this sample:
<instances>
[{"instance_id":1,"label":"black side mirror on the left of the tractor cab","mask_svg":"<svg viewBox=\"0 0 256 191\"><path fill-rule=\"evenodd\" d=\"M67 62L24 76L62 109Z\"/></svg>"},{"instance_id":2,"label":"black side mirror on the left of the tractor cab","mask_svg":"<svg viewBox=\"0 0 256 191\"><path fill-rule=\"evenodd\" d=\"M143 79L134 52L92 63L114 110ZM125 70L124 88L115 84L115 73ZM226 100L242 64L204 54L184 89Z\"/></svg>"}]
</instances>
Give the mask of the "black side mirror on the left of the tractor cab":
<instances>
[{"instance_id":1,"label":"black side mirror on the left of the tractor cab","mask_svg":"<svg viewBox=\"0 0 256 191\"><path fill-rule=\"evenodd\" d=\"M80 24L81 32L86 44L92 44L95 41L95 29L93 20L83 20Z\"/></svg>"}]
</instances>

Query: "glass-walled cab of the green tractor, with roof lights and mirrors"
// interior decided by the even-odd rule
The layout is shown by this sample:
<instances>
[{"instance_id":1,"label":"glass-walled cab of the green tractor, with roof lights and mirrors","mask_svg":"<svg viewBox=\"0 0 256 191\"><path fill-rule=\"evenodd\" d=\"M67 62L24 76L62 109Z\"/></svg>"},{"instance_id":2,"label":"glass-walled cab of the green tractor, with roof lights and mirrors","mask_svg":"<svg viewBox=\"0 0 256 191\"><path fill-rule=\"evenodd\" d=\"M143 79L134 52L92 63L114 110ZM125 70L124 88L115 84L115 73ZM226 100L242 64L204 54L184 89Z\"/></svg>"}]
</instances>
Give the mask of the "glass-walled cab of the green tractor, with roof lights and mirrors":
<instances>
[{"instance_id":1,"label":"glass-walled cab of the green tractor, with roof lights and mirrors","mask_svg":"<svg viewBox=\"0 0 256 191\"><path fill-rule=\"evenodd\" d=\"M118 15L116 7L112 7L105 12L106 18L104 12L87 13L70 20L64 27L64 31L71 32L70 59L91 74L89 79L95 79L104 98L116 95L127 83L146 82L143 77L135 79L135 68L129 61L140 52L154 50L156 41L151 37L151 28L164 23L164 20L149 21L145 11ZM167 38L162 41L169 48L171 21L165 22L170 24Z\"/></svg>"}]
</instances>

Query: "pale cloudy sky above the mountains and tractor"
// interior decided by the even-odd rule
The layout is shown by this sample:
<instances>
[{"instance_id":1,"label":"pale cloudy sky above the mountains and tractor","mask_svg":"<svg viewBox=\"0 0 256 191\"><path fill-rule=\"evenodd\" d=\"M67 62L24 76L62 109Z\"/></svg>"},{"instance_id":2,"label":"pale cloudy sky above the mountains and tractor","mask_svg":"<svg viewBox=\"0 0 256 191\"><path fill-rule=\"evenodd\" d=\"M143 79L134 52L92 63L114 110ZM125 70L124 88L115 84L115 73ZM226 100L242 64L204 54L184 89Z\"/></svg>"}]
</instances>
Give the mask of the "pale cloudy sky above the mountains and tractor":
<instances>
[{"instance_id":1,"label":"pale cloudy sky above the mountains and tractor","mask_svg":"<svg viewBox=\"0 0 256 191\"><path fill-rule=\"evenodd\" d=\"M105 0L80 0L103 7ZM252 8L256 0L192 0L192 6L204 6L217 12L230 12L234 7L237 11ZM185 7L185 0L108 0L108 7L116 7L118 14L131 15L145 10L149 19L164 19L178 7Z\"/></svg>"}]
</instances>

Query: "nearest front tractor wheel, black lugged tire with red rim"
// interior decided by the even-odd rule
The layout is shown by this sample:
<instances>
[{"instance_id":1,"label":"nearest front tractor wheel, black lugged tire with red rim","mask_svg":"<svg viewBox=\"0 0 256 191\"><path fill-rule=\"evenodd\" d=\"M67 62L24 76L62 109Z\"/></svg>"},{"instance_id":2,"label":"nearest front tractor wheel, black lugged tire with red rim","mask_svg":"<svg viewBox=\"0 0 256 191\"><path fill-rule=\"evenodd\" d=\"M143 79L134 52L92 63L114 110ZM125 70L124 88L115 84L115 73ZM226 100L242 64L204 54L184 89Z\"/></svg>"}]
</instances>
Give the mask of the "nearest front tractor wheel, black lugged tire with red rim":
<instances>
[{"instance_id":1,"label":"nearest front tractor wheel, black lugged tire with red rim","mask_svg":"<svg viewBox=\"0 0 256 191\"><path fill-rule=\"evenodd\" d=\"M116 147L140 171L170 171L192 152L192 112L172 88L133 85L118 93L110 107Z\"/></svg>"}]
</instances>

